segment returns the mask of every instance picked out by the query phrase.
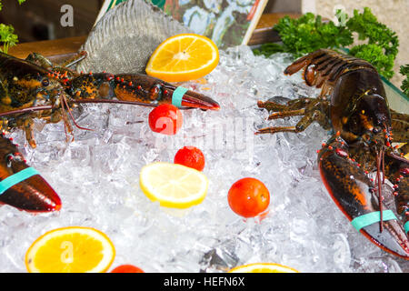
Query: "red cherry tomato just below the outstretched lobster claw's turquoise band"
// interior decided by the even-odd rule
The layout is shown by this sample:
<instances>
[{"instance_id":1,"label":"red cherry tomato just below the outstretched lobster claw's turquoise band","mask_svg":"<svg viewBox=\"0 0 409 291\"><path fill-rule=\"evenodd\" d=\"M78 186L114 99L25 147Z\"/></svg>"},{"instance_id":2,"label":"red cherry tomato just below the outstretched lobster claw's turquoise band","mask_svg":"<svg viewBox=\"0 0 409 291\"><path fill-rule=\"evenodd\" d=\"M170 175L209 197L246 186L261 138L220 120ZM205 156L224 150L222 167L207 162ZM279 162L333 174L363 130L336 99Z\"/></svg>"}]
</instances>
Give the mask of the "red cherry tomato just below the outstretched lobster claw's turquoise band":
<instances>
[{"instance_id":1,"label":"red cherry tomato just below the outstretched lobster claw's turquoise band","mask_svg":"<svg viewBox=\"0 0 409 291\"><path fill-rule=\"evenodd\" d=\"M155 133L175 135L182 127L183 115L179 108L171 104L163 104L155 107L149 113L149 127Z\"/></svg>"}]
</instances>

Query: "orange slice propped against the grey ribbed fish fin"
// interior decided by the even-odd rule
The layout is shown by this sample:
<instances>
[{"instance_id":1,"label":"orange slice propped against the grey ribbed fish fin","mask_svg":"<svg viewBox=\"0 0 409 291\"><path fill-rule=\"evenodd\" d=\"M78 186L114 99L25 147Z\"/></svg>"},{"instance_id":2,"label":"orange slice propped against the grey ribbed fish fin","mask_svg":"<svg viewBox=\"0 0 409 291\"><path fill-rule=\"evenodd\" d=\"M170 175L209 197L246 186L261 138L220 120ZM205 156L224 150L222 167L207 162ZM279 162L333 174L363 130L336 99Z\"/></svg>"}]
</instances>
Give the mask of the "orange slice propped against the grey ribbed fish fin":
<instances>
[{"instance_id":1,"label":"orange slice propped against the grey ribbed fish fin","mask_svg":"<svg viewBox=\"0 0 409 291\"><path fill-rule=\"evenodd\" d=\"M167 82L183 82L203 77L219 63L214 42L195 34L175 35L156 47L145 71Z\"/></svg>"}]
</instances>

